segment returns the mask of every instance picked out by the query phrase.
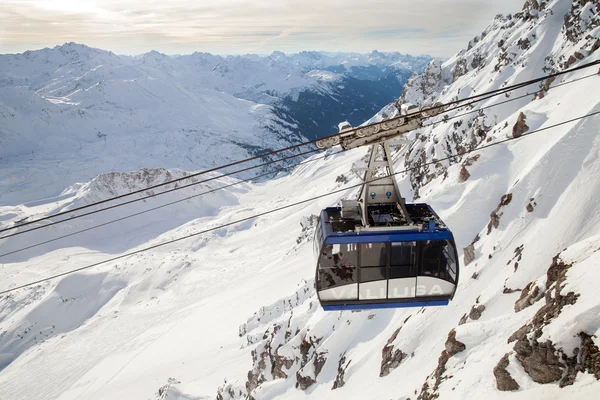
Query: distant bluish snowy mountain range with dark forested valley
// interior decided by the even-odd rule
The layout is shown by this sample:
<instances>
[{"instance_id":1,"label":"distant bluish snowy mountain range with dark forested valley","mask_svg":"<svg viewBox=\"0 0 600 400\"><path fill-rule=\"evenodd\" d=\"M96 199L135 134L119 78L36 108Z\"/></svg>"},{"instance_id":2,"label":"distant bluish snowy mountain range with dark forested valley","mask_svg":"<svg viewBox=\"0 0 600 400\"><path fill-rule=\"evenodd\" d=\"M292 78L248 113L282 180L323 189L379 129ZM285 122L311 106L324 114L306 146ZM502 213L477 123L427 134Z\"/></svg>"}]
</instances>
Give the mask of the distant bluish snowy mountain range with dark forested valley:
<instances>
[{"instance_id":1,"label":"distant bluish snowy mountain range with dark forested valley","mask_svg":"<svg viewBox=\"0 0 600 400\"><path fill-rule=\"evenodd\" d=\"M1 55L0 202L57 196L108 171L209 168L325 135L342 109L355 110L356 123L371 116L428 60L375 52L128 57L75 43ZM336 66L348 66L347 75L322 70ZM381 76L352 77L363 69Z\"/></svg>"}]
</instances>

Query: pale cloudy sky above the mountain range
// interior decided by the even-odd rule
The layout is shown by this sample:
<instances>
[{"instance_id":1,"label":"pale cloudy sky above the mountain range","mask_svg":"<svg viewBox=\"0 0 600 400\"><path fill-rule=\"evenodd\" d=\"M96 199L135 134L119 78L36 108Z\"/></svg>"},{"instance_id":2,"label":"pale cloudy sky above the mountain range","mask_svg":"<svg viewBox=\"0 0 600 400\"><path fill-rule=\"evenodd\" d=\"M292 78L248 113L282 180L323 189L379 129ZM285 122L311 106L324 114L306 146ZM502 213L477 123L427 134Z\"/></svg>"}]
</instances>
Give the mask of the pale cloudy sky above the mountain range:
<instances>
[{"instance_id":1,"label":"pale cloudy sky above the mountain range","mask_svg":"<svg viewBox=\"0 0 600 400\"><path fill-rule=\"evenodd\" d=\"M0 53L400 51L448 57L525 0L0 0Z\"/></svg>"}]
</instances>

